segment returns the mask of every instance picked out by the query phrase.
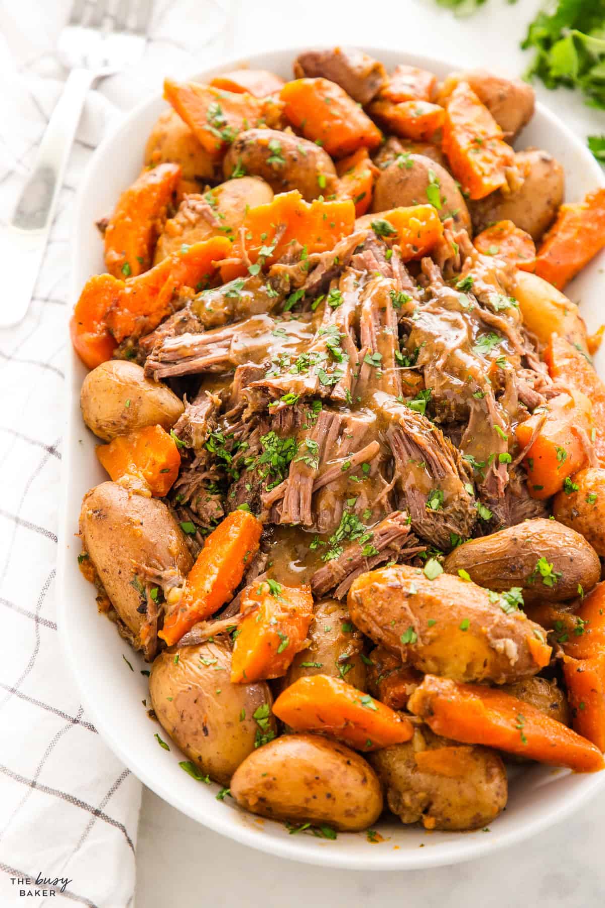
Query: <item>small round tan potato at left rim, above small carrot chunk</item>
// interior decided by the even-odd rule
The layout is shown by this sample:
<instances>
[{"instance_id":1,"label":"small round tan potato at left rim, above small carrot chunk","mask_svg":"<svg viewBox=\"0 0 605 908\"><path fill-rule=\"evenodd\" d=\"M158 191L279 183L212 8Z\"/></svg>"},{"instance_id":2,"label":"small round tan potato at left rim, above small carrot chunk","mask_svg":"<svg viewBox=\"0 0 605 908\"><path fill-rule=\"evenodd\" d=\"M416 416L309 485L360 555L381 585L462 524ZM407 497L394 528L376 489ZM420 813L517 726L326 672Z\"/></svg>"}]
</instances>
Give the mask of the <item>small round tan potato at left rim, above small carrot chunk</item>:
<instances>
[{"instance_id":1,"label":"small round tan potato at left rim, above small carrot chunk","mask_svg":"<svg viewBox=\"0 0 605 908\"><path fill-rule=\"evenodd\" d=\"M103 441L145 426L169 431L185 409L170 388L146 379L141 366L129 360L107 360L89 372L80 407L88 428Z\"/></svg>"}]
</instances>

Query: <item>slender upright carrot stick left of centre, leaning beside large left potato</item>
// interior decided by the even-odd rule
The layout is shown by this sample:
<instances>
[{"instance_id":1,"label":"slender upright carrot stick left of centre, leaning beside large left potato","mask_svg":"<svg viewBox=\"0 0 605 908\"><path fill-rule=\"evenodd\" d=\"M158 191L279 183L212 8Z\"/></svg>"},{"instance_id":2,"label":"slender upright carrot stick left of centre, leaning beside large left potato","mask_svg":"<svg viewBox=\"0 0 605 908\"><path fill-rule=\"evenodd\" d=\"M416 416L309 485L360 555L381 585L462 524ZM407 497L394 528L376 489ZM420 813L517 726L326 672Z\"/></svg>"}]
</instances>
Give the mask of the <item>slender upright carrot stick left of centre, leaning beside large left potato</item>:
<instances>
[{"instance_id":1,"label":"slender upright carrot stick left of centre, leaning beside large left potato","mask_svg":"<svg viewBox=\"0 0 605 908\"><path fill-rule=\"evenodd\" d=\"M190 569L181 601L164 618L158 634L168 646L181 639L197 621L224 605L259 550L262 524L249 511L234 510L210 533Z\"/></svg>"}]
</instances>

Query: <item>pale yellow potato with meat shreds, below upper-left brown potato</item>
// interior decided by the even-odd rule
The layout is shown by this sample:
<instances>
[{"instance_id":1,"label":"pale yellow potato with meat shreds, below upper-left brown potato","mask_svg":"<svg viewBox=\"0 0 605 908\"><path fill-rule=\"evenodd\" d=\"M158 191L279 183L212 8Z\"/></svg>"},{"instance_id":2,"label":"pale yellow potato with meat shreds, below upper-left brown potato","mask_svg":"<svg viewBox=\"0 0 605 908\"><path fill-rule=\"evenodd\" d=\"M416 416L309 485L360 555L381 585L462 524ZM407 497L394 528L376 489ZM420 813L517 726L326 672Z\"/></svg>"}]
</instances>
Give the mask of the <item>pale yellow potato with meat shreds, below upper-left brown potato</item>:
<instances>
[{"instance_id":1,"label":"pale yellow potato with meat shreds, below upper-left brown potato","mask_svg":"<svg viewBox=\"0 0 605 908\"><path fill-rule=\"evenodd\" d=\"M164 224L155 250L154 263L179 252L183 243L208 240L211 236L235 237L248 208L273 201L273 191L259 177L228 180L200 195L186 195L179 211Z\"/></svg>"}]
</instances>

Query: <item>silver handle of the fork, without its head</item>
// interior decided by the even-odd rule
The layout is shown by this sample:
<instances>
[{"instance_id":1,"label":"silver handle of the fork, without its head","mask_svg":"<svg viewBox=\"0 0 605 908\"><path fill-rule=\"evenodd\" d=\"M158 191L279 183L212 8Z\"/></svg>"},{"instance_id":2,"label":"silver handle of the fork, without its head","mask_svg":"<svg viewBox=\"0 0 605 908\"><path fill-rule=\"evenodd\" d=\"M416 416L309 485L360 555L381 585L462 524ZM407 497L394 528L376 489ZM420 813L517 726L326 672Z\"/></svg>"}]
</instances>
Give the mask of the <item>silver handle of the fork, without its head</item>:
<instances>
[{"instance_id":1,"label":"silver handle of the fork, without its head","mask_svg":"<svg viewBox=\"0 0 605 908\"><path fill-rule=\"evenodd\" d=\"M3 274L19 275L11 293L10 306L0 310L0 328L18 324L29 308L73 136L94 78L94 72L85 69L73 69L69 74L13 218L6 227L0 228L0 270Z\"/></svg>"}]
</instances>

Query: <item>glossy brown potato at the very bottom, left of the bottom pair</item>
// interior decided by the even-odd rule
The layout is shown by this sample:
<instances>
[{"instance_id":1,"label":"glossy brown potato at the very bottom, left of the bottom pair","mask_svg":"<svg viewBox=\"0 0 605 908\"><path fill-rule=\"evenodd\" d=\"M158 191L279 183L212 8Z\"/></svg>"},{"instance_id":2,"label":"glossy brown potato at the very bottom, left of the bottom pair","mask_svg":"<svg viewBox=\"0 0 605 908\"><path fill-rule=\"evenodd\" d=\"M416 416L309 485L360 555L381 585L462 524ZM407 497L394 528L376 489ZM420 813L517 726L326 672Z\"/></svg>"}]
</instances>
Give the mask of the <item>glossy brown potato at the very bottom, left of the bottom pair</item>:
<instances>
[{"instance_id":1,"label":"glossy brown potato at the very bottom, left of the bottom pair","mask_svg":"<svg viewBox=\"0 0 605 908\"><path fill-rule=\"evenodd\" d=\"M366 829L383 809L380 782L364 757L319 735L282 735L259 747L230 788L252 814L343 832Z\"/></svg>"}]
</instances>

